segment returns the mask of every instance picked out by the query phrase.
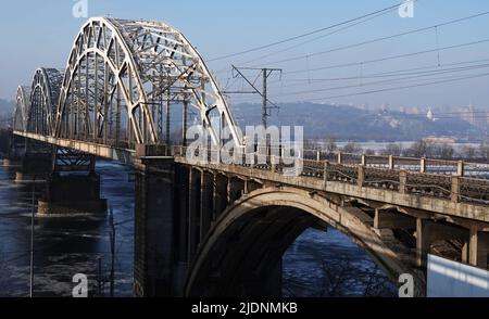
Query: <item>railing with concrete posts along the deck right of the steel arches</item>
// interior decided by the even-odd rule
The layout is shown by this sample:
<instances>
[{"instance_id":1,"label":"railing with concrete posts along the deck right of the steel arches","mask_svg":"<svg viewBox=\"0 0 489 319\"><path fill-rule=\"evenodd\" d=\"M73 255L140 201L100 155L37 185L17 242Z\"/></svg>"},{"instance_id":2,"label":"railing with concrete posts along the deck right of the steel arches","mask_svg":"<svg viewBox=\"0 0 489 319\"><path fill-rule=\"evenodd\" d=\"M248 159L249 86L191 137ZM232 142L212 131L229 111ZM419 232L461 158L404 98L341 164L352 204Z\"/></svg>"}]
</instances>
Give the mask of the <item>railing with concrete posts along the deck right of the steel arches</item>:
<instances>
[{"instance_id":1,"label":"railing with concrete posts along the deck right of the steel arches","mask_svg":"<svg viewBox=\"0 0 489 319\"><path fill-rule=\"evenodd\" d=\"M186 157L188 148L175 146L174 155ZM195 158L204 163L222 164L218 150L192 150ZM316 154L316 158L269 155L260 152L229 153L233 165L252 167L284 174L300 165L302 177L321 178L325 183L336 181L355 184L360 188L375 188L397 191L405 194L434 196L452 202L489 204L489 180L475 178L478 175L464 176L467 164L461 161L440 161L413 157L367 156L361 154L337 153L336 158ZM298 154L300 155L300 154ZM354 156L353 156L354 155ZM318 160L319 158L319 160ZM348 158L348 160L344 160ZM239 161L238 161L239 160ZM251 160L251 161L250 161ZM474 165L468 163L468 165ZM471 169L486 171L487 165L476 164Z\"/></svg>"}]
</instances>

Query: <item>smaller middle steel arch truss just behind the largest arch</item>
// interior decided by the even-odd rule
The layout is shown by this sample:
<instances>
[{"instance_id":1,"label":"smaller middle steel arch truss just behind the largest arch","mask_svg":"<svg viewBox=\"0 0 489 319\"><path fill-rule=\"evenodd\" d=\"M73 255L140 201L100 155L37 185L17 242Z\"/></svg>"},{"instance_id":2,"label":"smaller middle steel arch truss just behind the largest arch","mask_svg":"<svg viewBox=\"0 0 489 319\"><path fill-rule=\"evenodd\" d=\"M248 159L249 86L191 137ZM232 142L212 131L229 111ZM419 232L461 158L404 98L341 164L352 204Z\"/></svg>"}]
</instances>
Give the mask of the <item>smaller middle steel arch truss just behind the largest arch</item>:
<instances>
[{"instance_id":1,"label":"smaller middle steel arch truss just behind the largest arch","mask_svg":"<svg viewBox=\"0 0 489 319\"><path fill-rule=\"evenodd\" d=\"M38 68L30 87L30 106L26 129L30 132L51 136L54 131L54 114L60 95L63 72L55 68Z\"/></svg>"}]
</instances>

